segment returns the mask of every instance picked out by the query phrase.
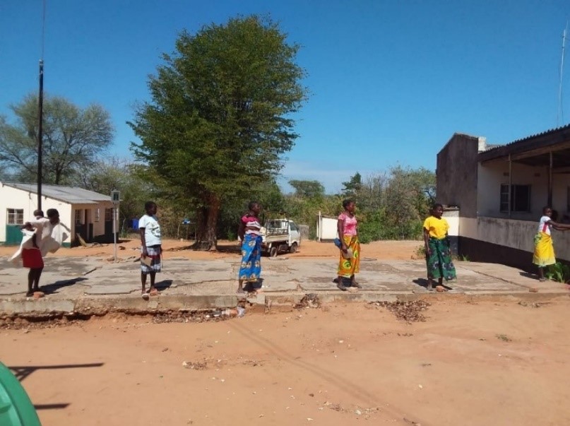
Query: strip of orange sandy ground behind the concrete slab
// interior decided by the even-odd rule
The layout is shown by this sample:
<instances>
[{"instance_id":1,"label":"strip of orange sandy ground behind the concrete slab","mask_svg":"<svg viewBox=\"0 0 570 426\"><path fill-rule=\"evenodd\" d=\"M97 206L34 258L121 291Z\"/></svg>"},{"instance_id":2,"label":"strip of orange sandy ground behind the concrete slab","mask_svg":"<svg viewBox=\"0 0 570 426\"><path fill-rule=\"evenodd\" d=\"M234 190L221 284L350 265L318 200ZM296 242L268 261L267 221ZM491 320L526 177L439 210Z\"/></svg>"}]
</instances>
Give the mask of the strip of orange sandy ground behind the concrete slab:
<instances>
[{"instance_id":1,"label":"strip of orange sandy ground behind the concrete slab","mask_svg":"<svg viewBox=\"0 0 570 426\"><path fill-rule=\"evenodd\" d=\"M189 249L192 242L167 239L163 240L162 247L165 250L165 259L172 257L186 259L220 259L228 256L239 256L239 245L237 242L218 242L218 252L198 252ZM410 259L415 255L418 247L423 242L420 241L378 241L370 244L362 244L361 251L363 257L376 259L403 260ZM93 244L89 244L92 246ZM122 248L121 248L122 247ZM129 257L141 247L140 239L121 240L117 244L117 256ZM0 256L11 256L16 251L16 247L0 247ZM48 256L112 256L114 254L114 244L96 244L95 247L73 247L73 249L59 249L55 254ZM295 254L280 254L279 256L290 256L295 259L314 259L315 257L338 256L338 249L332 242L303 241L299 247L299 252Z\"/></svg>"}]
</instances>

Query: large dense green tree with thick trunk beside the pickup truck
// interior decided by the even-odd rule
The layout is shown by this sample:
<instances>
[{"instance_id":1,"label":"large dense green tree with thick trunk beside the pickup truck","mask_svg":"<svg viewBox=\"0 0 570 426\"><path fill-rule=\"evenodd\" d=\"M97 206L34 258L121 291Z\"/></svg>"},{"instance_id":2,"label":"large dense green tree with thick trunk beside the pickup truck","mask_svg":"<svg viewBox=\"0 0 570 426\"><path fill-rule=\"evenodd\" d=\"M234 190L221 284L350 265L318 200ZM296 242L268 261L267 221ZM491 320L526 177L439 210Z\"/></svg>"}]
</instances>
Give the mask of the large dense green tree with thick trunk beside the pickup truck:
<instances>
[{"instance_id":1,"label":"large dense green tree with thick trunk beside the pickup truck","mask_svg":"<svg viewBox=\"0 0 570 426\"><path fill-rule=\"evenodd\" d=\"M197 247L215 248L222 202L273 179L297 138L293 113L307 90L299 46L286 39L259 16L182 32L130 123L136 158L198 208Z\"/></svg>"}]
</instances>

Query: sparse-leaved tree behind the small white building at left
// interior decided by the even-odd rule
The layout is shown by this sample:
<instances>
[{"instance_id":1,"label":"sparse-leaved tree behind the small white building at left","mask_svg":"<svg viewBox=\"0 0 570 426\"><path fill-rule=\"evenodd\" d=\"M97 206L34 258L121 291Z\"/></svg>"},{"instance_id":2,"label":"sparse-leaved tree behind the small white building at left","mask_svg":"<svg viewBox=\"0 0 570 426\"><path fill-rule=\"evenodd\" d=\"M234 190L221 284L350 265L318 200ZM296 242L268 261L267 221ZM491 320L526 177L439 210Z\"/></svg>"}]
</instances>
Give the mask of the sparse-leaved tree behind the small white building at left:
<instances>
[{"instance_id":1,"label":"sparse-leaved tree behind the small white building at left","mask_svg":"<svg viewBox=\"0 0 570 426\"><path fill-rule=\"evenodd\" d=\"M5 177L20 182L37 179L37 96L11 105L16 122L0 117L0 167ZM42 120L42 181L69 183L105 153L113 139L109 113L100 105L80 108L59 96L46 96Z\"/></svg>"}]
</instances>

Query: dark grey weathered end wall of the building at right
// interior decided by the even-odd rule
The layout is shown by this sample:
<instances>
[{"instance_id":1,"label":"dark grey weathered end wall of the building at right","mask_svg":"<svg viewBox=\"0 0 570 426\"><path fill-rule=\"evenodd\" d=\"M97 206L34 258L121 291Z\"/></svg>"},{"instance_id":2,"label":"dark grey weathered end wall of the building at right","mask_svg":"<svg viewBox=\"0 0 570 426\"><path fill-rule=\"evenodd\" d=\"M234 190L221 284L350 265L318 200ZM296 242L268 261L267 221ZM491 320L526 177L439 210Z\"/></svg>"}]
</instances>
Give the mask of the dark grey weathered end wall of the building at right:
<instances>
[{"instance_id":1,"label":"dark grey weathered end wall of the building at right","mask_svg":"<svg viewBox=\"0 0 570 426\"><path fill-rule=\"evenodd\" d=\"M454 134L437 154L437 202L477 217L477 153L482 138Z\"/></svg>"}]
</instances>

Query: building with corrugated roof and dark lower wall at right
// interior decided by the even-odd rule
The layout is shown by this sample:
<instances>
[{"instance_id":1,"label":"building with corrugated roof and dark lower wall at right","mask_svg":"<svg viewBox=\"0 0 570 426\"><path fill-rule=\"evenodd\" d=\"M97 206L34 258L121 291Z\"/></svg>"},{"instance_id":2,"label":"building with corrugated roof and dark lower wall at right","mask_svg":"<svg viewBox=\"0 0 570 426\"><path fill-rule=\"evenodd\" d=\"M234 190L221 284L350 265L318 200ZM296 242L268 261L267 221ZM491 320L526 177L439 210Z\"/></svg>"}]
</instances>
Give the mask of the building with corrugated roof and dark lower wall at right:
<instances>
[{"instance_id":1,"label":"building with corrugated roof and dark lower wall at right","mask_svg":"<svg viewBox=\"0 0 570 426\"><path fill-rule=\"evenodd\" d=\"M454 134L437 155L437 201L458 207L461 256L532 269L542 208L570 223L570 125L504 146ZM552 233L570 262L570 232Z\"/></svg>"}]
</instances>

